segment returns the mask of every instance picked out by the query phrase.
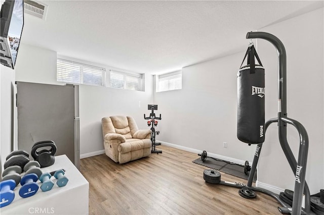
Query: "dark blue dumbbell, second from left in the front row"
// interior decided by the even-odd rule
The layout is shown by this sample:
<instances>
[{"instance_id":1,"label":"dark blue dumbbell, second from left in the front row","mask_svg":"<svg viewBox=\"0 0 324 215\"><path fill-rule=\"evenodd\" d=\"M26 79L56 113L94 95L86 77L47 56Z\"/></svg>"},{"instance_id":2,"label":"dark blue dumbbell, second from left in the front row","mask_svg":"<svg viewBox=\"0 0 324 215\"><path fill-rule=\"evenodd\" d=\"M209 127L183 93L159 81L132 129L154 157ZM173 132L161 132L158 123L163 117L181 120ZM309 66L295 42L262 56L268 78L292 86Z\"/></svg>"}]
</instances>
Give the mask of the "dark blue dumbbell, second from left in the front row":
<instances>
[{"instance_id":1,"label":"dark blue dumbbell, second from left in the front row","mask_svg":"<svg viewBox=\"0 0 324 215\"><path fill-rule=\"evenodd\" d=\"M22 187L19 189L19 195L23 198L35 195L39 188L36 183L37 180L38 177L34 173L24 175L20 181Z\"/></svg>"}]
</instances>

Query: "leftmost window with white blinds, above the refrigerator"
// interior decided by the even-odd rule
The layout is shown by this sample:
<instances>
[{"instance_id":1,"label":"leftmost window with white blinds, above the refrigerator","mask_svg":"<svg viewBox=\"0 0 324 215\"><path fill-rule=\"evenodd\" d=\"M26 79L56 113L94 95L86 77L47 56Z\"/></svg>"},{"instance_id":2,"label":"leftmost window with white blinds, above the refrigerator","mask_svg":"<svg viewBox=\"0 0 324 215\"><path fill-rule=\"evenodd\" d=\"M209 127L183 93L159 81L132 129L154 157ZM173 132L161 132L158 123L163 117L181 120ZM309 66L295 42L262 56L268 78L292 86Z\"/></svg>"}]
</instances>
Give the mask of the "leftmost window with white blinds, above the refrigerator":
<instances>
[{"instance_id":1,"label":"leftmost window with white blinds, above the refrigerator","mask_svg":"<svg viewBox=\"0 0 324 215\"><path fill-rule=\"evenodd\" d=\"M72 84L105 86L106 69L58 58L56 80Z\"/></svg>"}]
</instances>

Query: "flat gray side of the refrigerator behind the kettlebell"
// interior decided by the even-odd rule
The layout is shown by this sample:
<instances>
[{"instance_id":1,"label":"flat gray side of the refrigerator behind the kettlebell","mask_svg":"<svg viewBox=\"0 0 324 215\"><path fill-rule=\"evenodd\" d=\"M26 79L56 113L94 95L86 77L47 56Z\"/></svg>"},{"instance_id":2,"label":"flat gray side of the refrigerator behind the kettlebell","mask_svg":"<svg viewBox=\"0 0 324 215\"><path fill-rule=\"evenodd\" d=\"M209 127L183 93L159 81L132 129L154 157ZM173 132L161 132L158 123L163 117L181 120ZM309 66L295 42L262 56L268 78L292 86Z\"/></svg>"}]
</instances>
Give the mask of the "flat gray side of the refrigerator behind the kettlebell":
<instances>
[{"instance_id":1,"label":"flat gray side of the refrigerator behind the kettlebell","mask_svg":"<svg viewBox=\"0 0 324 215\"><path fill-rule=\"evenodd\" d=\"M74 164L73 85L17 82L17 107L18 149L30 152L35 142L53 140L56 155Z\"/></svg>"}]
</instances>

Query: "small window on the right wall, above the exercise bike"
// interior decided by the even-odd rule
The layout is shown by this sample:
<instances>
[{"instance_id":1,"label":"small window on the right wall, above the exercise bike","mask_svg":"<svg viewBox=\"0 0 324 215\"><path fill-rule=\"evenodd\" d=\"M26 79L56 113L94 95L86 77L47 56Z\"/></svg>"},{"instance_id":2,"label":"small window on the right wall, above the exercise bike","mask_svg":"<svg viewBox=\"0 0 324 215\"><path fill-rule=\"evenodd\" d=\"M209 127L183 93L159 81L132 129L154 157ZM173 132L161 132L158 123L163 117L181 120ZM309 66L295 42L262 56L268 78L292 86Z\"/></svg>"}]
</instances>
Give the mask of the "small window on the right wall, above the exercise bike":
<instances>
[{"instance_id":1,"label":"small window on the right wall, above the exercise bike","mask_svg":"<svg viewBox=\"0 0 324 215\"><path fill-rule=\"evenodd\" d=\"M156 92L182 89L182 71L156 76Z\"/></svg>"}]
</instances>

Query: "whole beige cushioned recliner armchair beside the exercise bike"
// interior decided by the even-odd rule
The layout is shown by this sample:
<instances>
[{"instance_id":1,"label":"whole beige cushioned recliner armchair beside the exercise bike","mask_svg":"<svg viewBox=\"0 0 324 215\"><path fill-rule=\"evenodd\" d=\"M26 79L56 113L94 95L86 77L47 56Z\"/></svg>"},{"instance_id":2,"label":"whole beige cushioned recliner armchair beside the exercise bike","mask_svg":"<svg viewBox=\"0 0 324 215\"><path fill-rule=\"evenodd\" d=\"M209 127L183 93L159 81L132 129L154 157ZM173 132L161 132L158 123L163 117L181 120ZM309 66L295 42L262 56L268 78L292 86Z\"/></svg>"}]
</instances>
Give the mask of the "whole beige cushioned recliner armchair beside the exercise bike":
<instances>
[{"instance_id":1,"label":"whole beige cushioned recliner armchair beside the exercise bike","mask_svg":"<svg viewBox=\"0 0 324 215\"><path fill-rule=\"evenodd\" d=\"M132 117L102 118L105 153L114 162L124 164L151 154L151 130L139 130Z\"/></svg>"}]
</instances>

